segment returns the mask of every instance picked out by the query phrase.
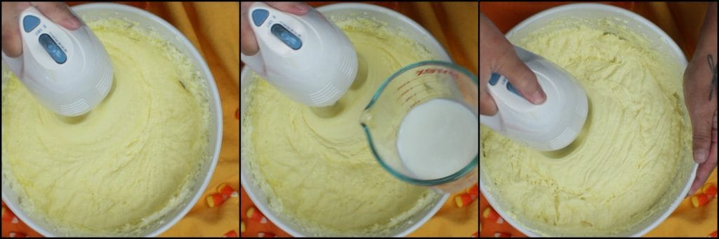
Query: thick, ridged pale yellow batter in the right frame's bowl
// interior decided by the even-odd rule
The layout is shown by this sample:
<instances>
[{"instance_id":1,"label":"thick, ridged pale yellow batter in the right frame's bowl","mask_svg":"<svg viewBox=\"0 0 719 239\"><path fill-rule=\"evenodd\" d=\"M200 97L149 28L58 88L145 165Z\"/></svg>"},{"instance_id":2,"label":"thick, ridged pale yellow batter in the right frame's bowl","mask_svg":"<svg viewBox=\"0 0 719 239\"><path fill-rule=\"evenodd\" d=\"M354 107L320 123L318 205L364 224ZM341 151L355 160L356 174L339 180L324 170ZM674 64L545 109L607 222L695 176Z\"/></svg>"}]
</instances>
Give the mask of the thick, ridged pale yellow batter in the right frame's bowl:
<instances>
[{"instance_id":1,"label":"thick, ridged pale yellow batter in the right frame's bowl","mask_svg":"<svg viewBox=\"0 0 719 239\"><path fill-rule=\"evenodd\" d=\"M682 157L690 128L679 66L623 26L591 23L555 22L511 39L584 86L590 113L574 144L540 153L480 129L482 174L498 200L554 235L610 235L635 225L691 160Z\"/></svg>"}]
</instances>

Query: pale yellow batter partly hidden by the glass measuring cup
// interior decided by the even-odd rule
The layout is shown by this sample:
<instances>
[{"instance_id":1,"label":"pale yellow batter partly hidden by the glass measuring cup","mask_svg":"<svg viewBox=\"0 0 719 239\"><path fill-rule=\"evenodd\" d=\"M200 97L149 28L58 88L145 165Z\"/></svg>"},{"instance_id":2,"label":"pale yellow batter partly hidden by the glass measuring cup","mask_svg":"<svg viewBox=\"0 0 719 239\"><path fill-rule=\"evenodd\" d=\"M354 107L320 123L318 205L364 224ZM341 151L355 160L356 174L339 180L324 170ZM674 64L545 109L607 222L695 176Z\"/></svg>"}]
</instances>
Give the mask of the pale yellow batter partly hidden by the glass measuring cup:
<instances>
[{"instance_id":1,"label":"pale yellow batter partly hidden by the glass measuring cup","mask_svg":"<svg viewBox=\"0 0 719 239\"><path fill-rule=\"evenodd\" d=\"M243 159L252 159L255 177L264 178L261 186L275 195L270 197L273 210L306 228L321 235L382 233L426 207L436 194L380 167L359 115L388 76L431 55L377 22L337 24L357 51L354 84L336 106L309 108L258 79L242 120Z\"/></svg>"}]
</instances>

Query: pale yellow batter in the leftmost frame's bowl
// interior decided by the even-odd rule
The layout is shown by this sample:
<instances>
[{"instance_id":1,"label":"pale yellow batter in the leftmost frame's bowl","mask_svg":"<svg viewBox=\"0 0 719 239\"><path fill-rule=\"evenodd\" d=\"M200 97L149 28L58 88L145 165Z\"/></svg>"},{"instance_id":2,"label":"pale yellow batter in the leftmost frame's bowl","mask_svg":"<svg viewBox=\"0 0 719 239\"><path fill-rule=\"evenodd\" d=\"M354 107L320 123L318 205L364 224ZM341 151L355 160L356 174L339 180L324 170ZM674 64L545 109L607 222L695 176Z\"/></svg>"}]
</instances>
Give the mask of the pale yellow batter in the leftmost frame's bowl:
<instances>
[{"instance_id":1,"label":"pale yellow batter in the leftmost frame's bowl","mask_svg":"<svg viewBox=\"0 0 719 239\"><path fill-rule=\"evenodd\" d=\"M12 76L2 92L2 172L25 210L67 233L132 233L189 196L207 150L205 86L177 50L134 24L88 25L111 58L110 93L65 118Z\"/></svg>"}]
</instances>

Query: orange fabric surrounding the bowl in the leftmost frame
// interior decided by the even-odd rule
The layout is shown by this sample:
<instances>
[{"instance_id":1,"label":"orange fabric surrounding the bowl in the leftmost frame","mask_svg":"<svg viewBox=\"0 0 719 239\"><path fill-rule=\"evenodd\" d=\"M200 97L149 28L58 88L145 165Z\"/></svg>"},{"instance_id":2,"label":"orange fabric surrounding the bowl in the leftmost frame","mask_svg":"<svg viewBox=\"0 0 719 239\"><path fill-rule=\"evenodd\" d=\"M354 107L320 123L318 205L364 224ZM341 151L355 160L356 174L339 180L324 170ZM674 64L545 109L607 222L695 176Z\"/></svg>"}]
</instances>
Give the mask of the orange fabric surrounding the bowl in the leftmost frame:
<instances>
[{"instance_id":1,"label":"orange fabric surrounding the bowl in the leftmost frame","mask_svg":"<svg viewBox=\"0 0 719 239\"><path fill-rule=\"evenodd\" d=\"M74 6L85 2L69 2ZM122 3L122 2L121 2ZM239 189L239 3L132 2L136 6L173 24L193 43L209 65L215 78L223 113L223 138L217 167L206 192L188 214L160 236L219 237L235 230L239 235L239 197L229 198L219 207L209 208L205 198L226 182ZM2 236L21 232L40 236L19 222L2 220Z\"/></svg>"}]
</instances>

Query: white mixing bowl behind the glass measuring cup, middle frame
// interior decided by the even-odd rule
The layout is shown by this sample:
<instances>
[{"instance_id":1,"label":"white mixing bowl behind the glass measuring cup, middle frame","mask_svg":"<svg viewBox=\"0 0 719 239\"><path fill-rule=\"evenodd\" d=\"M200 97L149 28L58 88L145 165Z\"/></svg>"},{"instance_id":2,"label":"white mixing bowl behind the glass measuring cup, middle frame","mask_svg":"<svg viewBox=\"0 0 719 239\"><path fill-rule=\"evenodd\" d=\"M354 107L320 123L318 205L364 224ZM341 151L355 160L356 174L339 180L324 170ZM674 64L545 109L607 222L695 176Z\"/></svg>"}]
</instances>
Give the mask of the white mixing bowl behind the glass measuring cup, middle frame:
<instances>
[{"instance_id":1,"label":"white mixing bowl behind the glass measuring cup, middle frame","mask_svg":"<svg viewBox=\"0 0 719 239\"><path fill-rule=\"evenodd\" d=\"M317 8L317 10L326 17L363 14L362 16L374 18L380 22L385 22L388 24L388 27L405 32L408 37L415 39L419 44L426 47L426 49L434 55L434 60L451 61L449 55L446 54L444 49L441 47L441 44L432 37L432 34L429 34L429 32L421 27L420 24L417 24L412 19L405 17L397 11L370 4L330 4L321 6ZM252 70L249 70L249 67L244 67L244 69L242 69L242 74L240 75L240 89L245 88L254 82L254 80L255 78L252 77ZM243 114L247 106L246 97L247 95L242 92L240 95L240 112ZM359 123L359 119L357 123ZM282 230L290 235L296 237L311 235L311 233L303 230L300 226L293 224L285 217L285 215L279 215L273 210L270 210L270 207L267 206L267 195L265 195L265 193L262 192L257 185L255 185L255 178L249 173L249 160L251 159L243 158L240 162L240 182L242 182L242 187L247 192L249 198L252 199L252 202L255 202L257 208L262 211L267 219L274 222L275 225L278 225L278 227L282 228ZM425 209L417 212L415 215L409 217L405 222L400 222L398 227L393 228L393 230L385 236L403 237L412 233L414 230L427 222L427 220L429 220L429 218L431 218L437 210L444 205L447 198L449 198L448 194L436 197L436 199L431 202L431 207L426 207Z\"/></svg>"}]
</instances>

